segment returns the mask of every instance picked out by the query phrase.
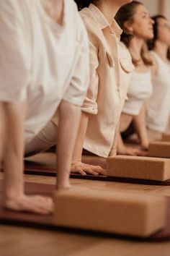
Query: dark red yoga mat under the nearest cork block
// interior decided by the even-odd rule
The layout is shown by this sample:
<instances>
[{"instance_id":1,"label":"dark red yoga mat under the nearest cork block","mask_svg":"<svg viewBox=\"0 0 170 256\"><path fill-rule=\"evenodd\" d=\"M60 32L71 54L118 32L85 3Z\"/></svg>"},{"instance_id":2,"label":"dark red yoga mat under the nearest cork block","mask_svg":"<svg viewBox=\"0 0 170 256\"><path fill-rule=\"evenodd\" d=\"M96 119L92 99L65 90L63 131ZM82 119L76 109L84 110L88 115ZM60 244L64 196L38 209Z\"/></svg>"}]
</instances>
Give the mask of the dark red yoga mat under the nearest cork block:
<instances>
[{"instance_id":1,"label":"dark red yoga mat under the nearest cork block","mask_svg":"<svg viewBox=\"0 0 170 256\"><path fill-rule=\"evenodd\" d=\"M2 189L2 180L0 180L0 192ZM52 195L55 189L54 185L50 184L39 184L39 183L30 183L25 182L25 192L27 195L32 194L39 194L39 195ZM114 193L114 192L113 192ZM97 235L97 236L109 236L109 237L116 237L116 238L125 238L125 239L140 239L144 241L169 241L170 240L170 197L166 197L166 205L167 205L167 218L166 218L166 227L165 229L156 232L152 236L140 239L138 237L129 237L129 236L120 236L120 235L112 235L112 234L103 234L99 232L93 231L84 231L79 229L68 229L68 228L61 228L58 226L54 226L53 224L53 216L42 216L38 214L32 213L19 213L14 212L11 210L5 210L0 205L0 224L4 225L14 225L14 226L27 226L33 227L38 229L50 229L56 231L67 231L67 232L80 232L81 234L89 234L89 235Z\"/></svg>"}]
</instances>

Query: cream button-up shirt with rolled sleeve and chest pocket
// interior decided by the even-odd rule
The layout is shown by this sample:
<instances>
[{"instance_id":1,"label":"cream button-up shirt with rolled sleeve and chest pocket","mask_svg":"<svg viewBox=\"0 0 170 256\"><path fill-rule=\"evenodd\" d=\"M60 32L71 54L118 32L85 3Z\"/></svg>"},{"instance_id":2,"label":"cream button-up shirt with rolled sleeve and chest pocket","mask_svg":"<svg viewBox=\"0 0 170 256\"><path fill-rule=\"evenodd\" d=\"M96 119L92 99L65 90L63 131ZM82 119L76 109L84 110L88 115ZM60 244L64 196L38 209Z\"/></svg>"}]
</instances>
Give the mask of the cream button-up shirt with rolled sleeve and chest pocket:
<instances>
[{"instance_id":1,"label":"cream button-up shirt with rolled sleeve and chest pocket","mask_svg":"<svg viewBox=\"0 0 170 256\"><path fill-rule=\"evenodd\" d=\"M120 43L122 30L112 25L94 4L81 11L89 34L91 80L82 111L91 114L84 148L107 157L130 81L133 64L127 48Z\"/></svg>"}]
</instances>

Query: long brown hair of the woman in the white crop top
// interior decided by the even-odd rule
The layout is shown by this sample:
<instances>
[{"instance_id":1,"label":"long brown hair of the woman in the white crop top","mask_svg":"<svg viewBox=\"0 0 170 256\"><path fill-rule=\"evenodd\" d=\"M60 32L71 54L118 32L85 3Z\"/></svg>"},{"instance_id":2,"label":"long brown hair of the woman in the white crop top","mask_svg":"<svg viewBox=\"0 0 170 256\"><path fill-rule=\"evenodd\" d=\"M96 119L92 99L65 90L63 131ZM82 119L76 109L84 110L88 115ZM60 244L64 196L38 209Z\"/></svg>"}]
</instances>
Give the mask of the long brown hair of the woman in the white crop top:
<instances>
[{"instance_id":1,"label":"long brown hair of the woman in the white crop top","mask_svg":"<svg viewBox=\"0 0 170 256\"><path fill-rule=\"evenodd\" d=\"M115 20L117 21L118 25L122 28L122 35L120 40L125 43L125 46L128 48L130 47L130 40L133 39L133 34L130 34L125 28L125 22L133 22L133 17L136 12L136 8L139 5L143 5L140 1L132 1L129 4L125 4L124 6L120 7L119 11L115 16ZM146 43L143 43L143 48L141 49L141 59L143 60L144 64L147 66L153 65L153 61L151 59L150 54L148 53L148 48ZM138 60L133 58L133 64L138 66Z\"/></svg>"}]
</instances>

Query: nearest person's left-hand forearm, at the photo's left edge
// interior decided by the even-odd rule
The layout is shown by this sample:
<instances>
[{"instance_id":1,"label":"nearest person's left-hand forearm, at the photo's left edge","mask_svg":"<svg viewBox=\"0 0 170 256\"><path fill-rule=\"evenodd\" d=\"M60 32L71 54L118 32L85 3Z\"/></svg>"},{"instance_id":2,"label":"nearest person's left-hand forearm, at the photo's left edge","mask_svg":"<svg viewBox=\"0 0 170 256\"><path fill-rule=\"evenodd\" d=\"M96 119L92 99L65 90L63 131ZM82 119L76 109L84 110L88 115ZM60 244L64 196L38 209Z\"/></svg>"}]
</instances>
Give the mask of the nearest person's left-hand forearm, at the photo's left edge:
<instances>
[{"instance_id":1,"label":"nearest person's left-hand forearm, at the photo's left edge","mask_svg":"<svg viewBox=\"0 0 170 256\"><path fill-rule=\"evenodd\" d=\"M24 193L24 116L25 102L2 103L6 136L3 147L4 197L15 197Z\"/></svg>"}]
</instances>

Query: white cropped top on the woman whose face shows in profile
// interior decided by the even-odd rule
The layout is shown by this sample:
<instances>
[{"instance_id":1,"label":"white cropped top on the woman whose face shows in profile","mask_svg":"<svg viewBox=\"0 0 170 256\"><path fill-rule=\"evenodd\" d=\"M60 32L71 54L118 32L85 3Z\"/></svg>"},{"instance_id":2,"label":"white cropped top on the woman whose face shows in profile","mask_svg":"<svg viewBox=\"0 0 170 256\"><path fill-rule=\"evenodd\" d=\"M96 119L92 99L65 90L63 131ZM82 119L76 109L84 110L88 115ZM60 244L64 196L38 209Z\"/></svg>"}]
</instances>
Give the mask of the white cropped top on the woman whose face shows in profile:
<instances>
[{"instance_id":1,"label":"white cropped top on the woman whose face shows in profile","mask_svg":"<svg viewBox=\"0 0 170 256\"><path fill-rule=\"evenodd\" d=\"M122 112L138 116L143 103L151 97L152 92L151 69L143 73L133 72L128 87L128 101L125 102Z\"/></svg>"}]
</instances>

